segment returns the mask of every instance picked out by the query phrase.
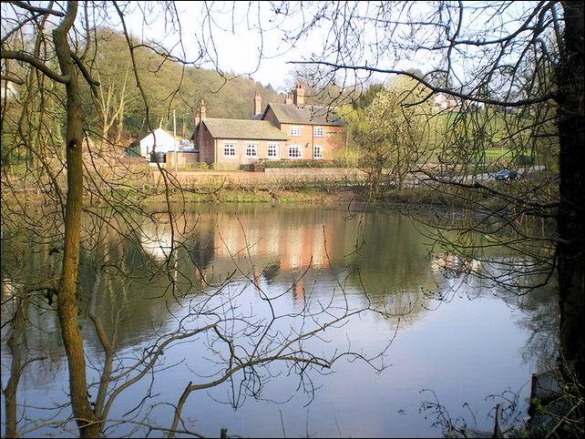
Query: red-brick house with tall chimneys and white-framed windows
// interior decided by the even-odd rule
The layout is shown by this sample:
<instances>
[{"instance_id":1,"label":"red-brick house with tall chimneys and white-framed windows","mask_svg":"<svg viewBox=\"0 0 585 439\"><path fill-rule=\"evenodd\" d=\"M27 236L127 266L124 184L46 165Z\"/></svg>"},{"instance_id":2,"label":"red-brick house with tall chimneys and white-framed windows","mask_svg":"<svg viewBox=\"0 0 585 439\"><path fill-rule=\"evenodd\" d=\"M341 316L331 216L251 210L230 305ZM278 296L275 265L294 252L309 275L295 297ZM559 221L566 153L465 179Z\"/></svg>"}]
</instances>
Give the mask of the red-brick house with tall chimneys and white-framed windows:
<instances>
[{"instance_id":1,"label":"red-brick house with tall chimneys and white-framed windows","mask_svg":"<svg viewBox=\"0 0 585 439\"><path fill-rule=\"evenodd\" d=\"M329 107L304 104L303 86L284 103L270 103L262 112L256 92L254 115L248 119L207 117L201 101L192 139L200 161L218 168L237 168L262 160L332 159L345 145L344 122Z\"/></svg>"}]
</instances>

